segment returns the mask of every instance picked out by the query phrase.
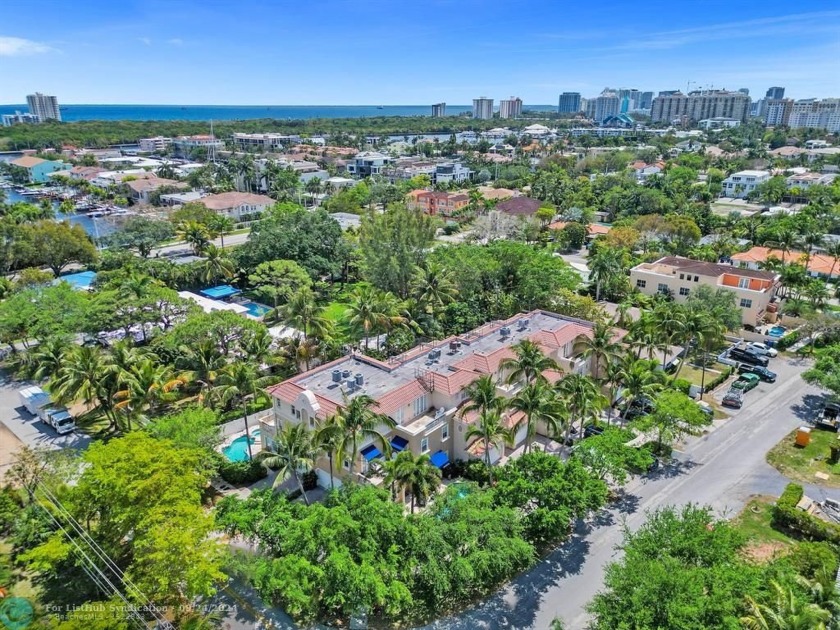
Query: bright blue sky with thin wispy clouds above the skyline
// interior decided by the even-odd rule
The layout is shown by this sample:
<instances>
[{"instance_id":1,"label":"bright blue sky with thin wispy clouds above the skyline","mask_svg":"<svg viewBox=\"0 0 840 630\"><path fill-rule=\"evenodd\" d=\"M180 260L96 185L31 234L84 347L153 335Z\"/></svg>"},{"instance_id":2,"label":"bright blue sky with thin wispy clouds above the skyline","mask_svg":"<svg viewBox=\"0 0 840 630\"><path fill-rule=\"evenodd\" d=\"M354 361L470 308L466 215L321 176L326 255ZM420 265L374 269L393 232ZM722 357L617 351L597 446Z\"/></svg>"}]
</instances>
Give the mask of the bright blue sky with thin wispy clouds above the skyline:
<instances>
[{"instance_id":1,"label":"bright blue sky with thin wispy clouds above the skyline","mask_svg":"<svg viewBox=\"0 0 840 630\"><path fill-rule=\"evenodd\" d=\"M397 105L772 85L840 96L836 0L41 0L0 19L0 103Z\"/></svg>"}]
</instances>

